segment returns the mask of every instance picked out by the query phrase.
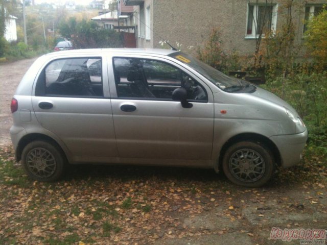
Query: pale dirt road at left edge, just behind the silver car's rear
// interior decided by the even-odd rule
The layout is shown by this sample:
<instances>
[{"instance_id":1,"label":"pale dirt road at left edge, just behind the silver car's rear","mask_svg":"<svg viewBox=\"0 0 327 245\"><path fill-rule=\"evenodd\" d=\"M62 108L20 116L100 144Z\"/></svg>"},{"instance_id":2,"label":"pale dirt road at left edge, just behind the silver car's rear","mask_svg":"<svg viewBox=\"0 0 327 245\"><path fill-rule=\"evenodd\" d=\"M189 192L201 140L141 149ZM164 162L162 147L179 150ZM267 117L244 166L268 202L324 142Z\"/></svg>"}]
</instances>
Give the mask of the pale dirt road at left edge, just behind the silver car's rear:
<instances>
[{"instance_id":1,"label":"pale dirt road at left edge, just behind the silver car's rear","mask_svg":"<svg viewBox=\"0 0 327 245\"><path fill-rule=\"evenodd\" d=\"M0 146L11 144L9 135L12 124L11 98L25 72L35 60L36 58L0 64Z\"/></svg>"}]
</instances>

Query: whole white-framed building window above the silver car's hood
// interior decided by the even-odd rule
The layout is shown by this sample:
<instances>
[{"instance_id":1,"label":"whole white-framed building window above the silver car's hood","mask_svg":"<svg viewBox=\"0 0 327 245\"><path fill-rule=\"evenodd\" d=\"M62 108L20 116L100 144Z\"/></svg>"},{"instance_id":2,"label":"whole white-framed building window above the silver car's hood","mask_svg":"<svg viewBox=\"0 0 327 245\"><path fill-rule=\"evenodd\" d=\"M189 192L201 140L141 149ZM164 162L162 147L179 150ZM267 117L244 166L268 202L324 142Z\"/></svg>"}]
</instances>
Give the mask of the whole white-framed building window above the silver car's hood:
<instances>
[{"instance_id":1,"label":"whole white-framed building window above the silver car's hood","mask_svg":"<svg viewBox=\"0 0 327 245\"><path fill-rule=\"evenodd\" d=\"M256 38L267 30L276 30L277 4L248 5L246 38Z\"/></svg>"}]
</instances>

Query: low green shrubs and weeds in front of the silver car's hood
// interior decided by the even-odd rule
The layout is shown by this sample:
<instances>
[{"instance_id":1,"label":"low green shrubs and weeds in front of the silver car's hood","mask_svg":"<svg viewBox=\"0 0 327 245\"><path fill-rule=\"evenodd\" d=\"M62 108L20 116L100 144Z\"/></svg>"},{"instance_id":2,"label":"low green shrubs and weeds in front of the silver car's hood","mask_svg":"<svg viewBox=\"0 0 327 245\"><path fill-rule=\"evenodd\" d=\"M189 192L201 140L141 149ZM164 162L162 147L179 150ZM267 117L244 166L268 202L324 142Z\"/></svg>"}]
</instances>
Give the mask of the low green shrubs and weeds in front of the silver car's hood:
<instances>
[{"instance_id":1,"label":"low green shrubs and weeds in front of the silver car's hood","mask_svg":"<svg viewBox=\"0 0 327 245\"><path fill-rule=\"evenodd\" d=\"M310 139L308 159L327 164L327 72L277 77L263 87L283 97L305 122Z\"/></svg>"}]
</instances>

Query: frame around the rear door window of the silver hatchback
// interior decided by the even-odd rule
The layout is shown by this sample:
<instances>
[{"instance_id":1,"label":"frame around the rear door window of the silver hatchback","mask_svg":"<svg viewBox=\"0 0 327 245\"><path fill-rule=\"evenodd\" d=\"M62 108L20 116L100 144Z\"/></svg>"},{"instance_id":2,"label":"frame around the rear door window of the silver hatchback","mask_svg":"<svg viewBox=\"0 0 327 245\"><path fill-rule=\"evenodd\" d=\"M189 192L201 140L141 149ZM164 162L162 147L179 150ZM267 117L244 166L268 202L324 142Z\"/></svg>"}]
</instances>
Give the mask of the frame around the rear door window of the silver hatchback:
<instances>
[{"instance_id":1,"label":"frame around the rear door window of the silver hatchback","mask_svg":"<svg viewBox=\"0 0 327 245\"><path fill-rule=\"evenodd\" d=\"M101 60L101 85L102 85L102 96L99 95L66 95L66 94L47 94L46 93L46 68L53 62L58 60L68 60L68 59L100 59ZM102 56L75 56L75 57L62 57L54 58L46 62L46 64L40 69L40 72L37 76L35 87L33 88L33 96L36 97L65 97L65 98L86 98L86 99L108 99L105 95L104 87L104 73L103 73L103 63L104 57ZM41 92L39 91L41 90Z\"/></svg>"}]
</instances>

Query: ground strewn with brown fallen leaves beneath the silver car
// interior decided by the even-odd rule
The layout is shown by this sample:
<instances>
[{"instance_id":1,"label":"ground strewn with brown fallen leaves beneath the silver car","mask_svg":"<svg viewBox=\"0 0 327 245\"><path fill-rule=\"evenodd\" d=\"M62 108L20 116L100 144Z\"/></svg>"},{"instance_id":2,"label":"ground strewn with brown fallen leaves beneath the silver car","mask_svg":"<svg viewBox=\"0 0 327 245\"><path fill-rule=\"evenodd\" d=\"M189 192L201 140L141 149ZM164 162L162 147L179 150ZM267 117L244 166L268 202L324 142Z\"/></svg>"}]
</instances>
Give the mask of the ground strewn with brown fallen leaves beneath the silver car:
<instances>
[{"instance_id":1,"label":"ground strewn with brown fallen leaves beneath the silver car","mask_svg":"<svg viewBox=\"0 0 327 245\"><path fill-rule=\"evenodd\" d=\"M0 155L0 244L223 244L228 235L270 244L273 226L327 228L319 157L247 189L213 170L132 166L76 166L62 181L33 182L11 148Z\"/></svg>"}]
</instances>

